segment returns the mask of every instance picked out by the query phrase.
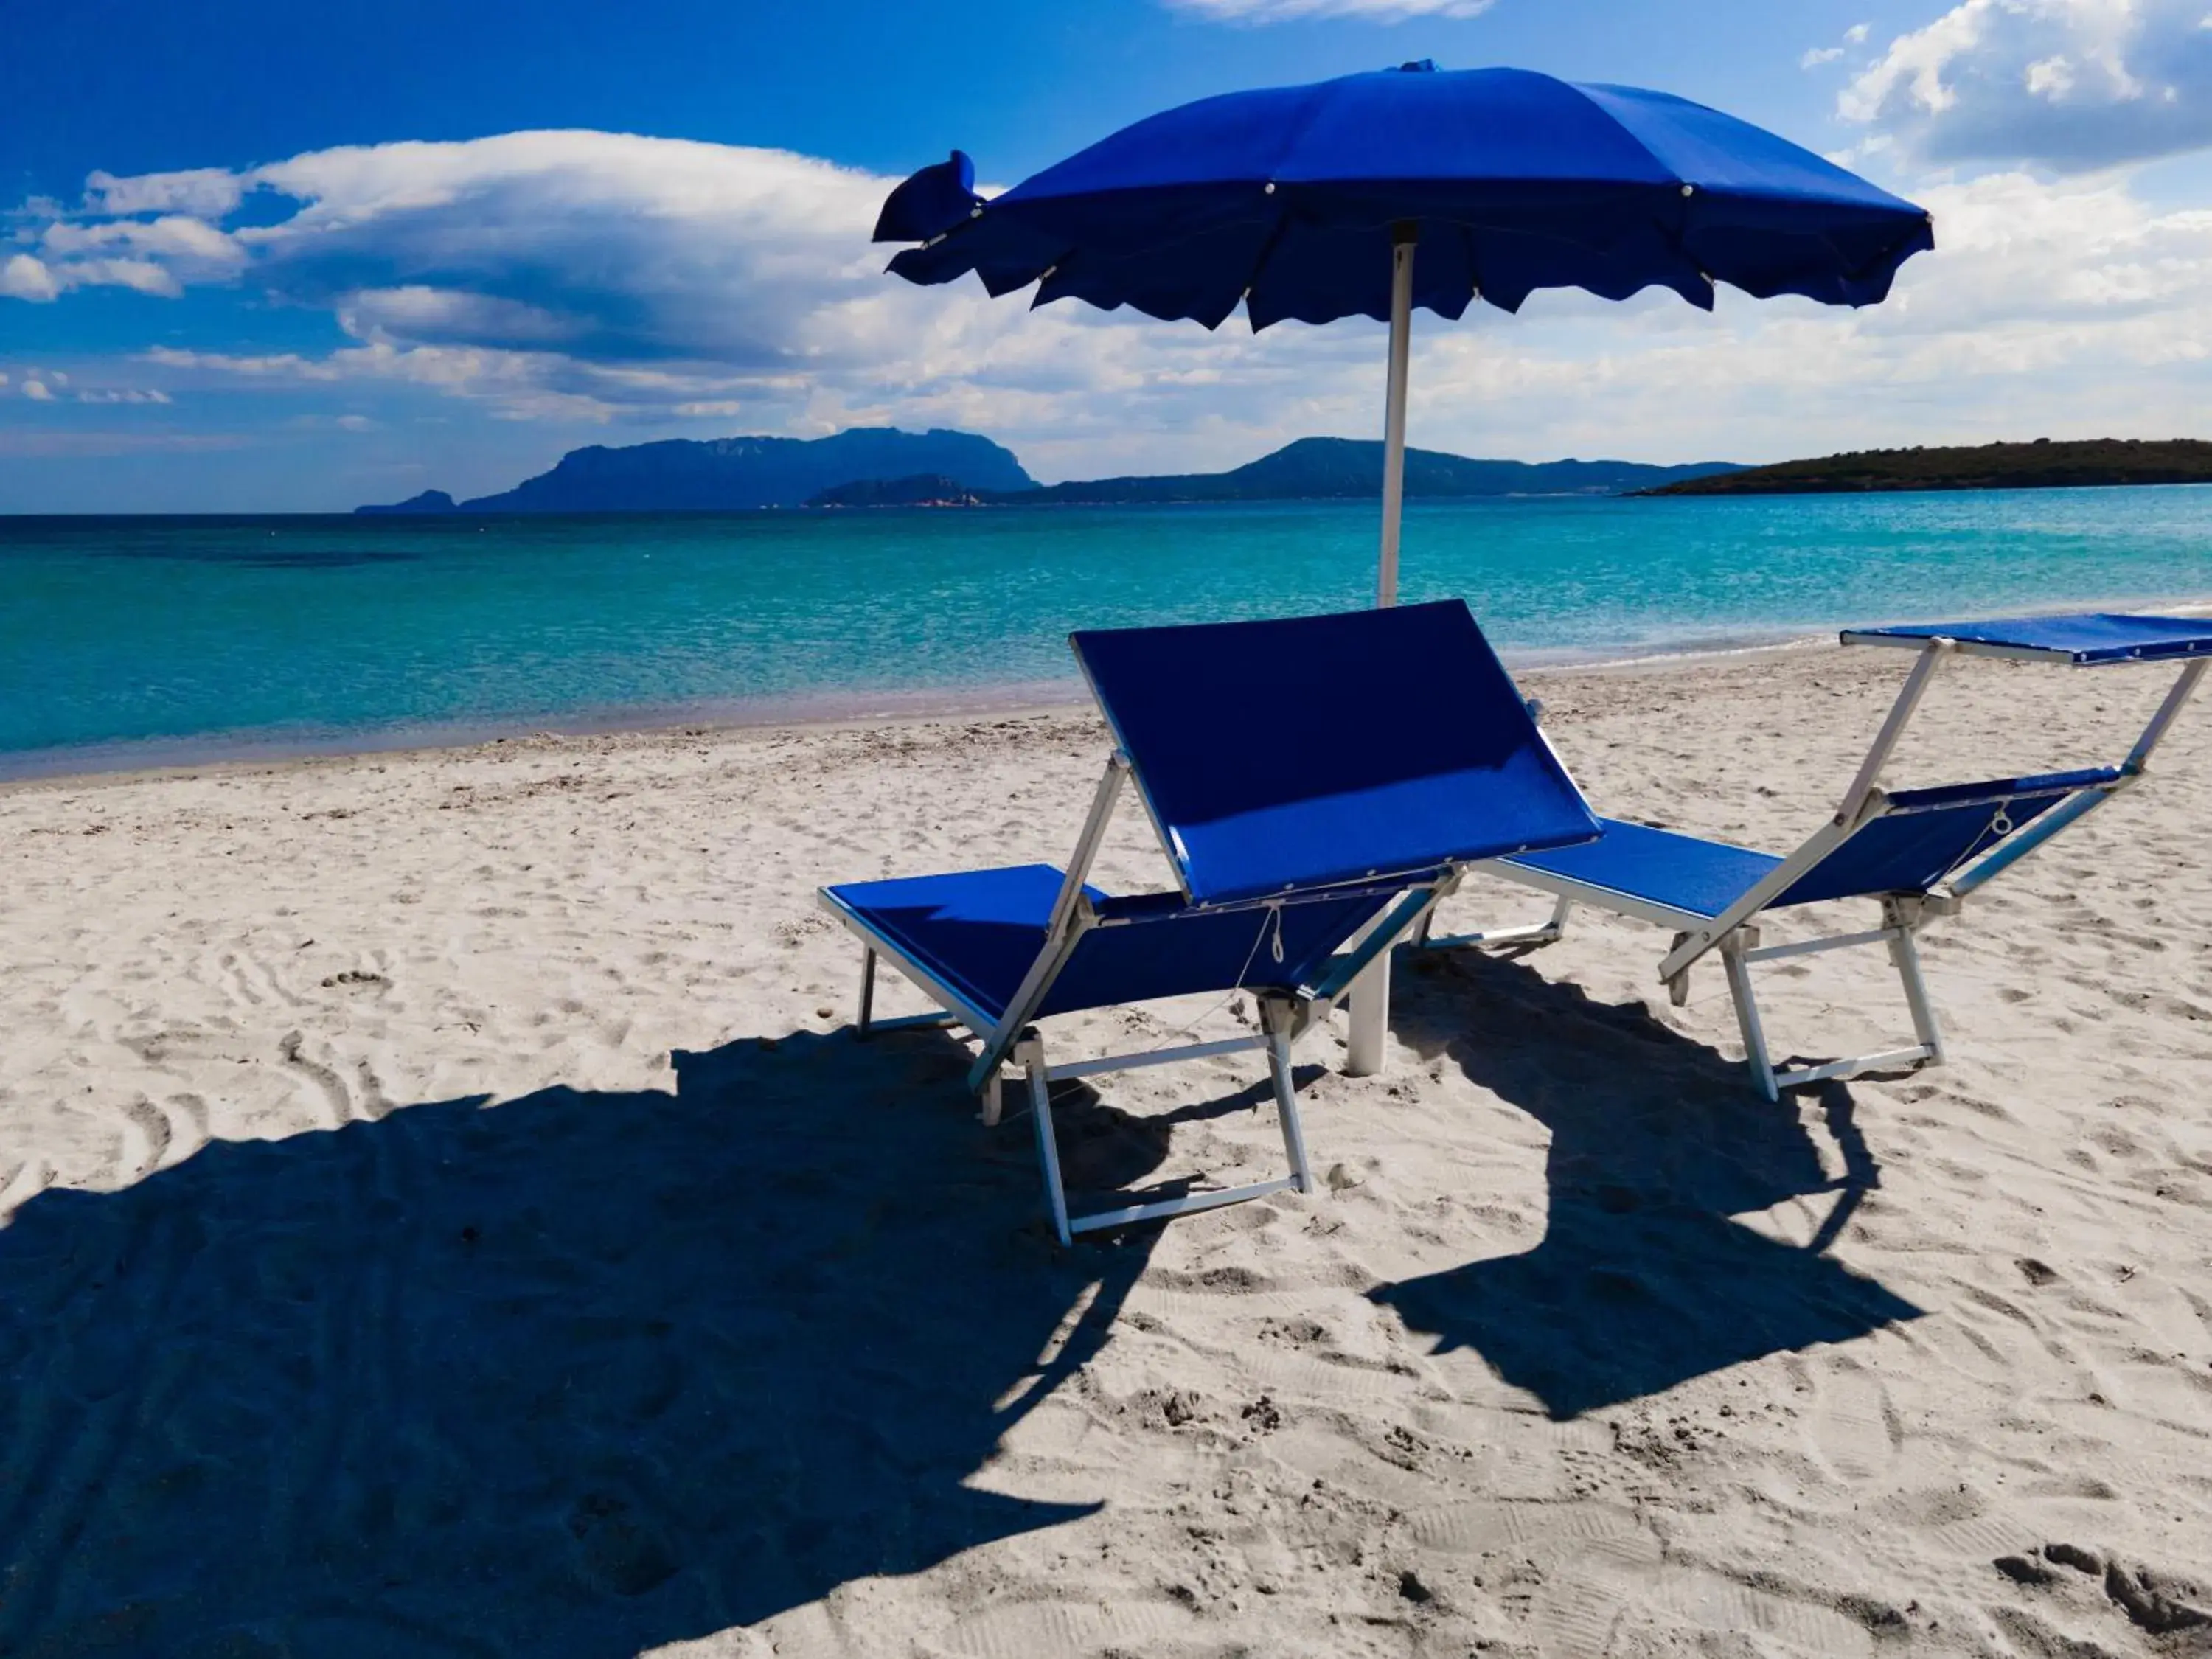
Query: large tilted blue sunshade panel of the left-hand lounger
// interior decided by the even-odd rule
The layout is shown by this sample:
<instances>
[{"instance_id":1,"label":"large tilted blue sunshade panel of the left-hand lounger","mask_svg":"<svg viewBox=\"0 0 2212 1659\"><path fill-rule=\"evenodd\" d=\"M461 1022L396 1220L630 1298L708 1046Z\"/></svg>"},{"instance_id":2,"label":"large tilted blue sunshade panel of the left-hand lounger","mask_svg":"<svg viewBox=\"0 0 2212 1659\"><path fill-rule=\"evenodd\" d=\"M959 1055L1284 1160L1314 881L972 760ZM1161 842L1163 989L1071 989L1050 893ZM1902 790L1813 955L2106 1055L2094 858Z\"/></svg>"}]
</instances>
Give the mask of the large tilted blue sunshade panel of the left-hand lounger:
<instances>
[{"instance_id":1,"label":"large tilted blue sunshade panel of the left-hand lounger","mask_svg":"<svg viewBox=\"0 0 2212 1659\"><path fill-rule=\"evenodd\" d=\"M1460 599L1071 644L1192 902L1597 836Z\"/></svg>"}]
</instances>

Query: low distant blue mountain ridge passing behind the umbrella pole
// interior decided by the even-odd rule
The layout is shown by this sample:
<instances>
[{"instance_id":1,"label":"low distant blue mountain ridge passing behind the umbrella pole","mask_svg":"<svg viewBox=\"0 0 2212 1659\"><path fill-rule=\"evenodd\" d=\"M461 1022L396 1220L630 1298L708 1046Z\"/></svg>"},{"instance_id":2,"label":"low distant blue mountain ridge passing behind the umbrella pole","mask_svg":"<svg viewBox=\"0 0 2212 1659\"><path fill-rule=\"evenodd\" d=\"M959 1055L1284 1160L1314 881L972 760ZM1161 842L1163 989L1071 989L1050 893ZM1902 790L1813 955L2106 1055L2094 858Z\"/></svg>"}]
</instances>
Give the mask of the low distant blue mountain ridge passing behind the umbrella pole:
<instances>
[{"instance_id":1,"label":"low distant blue mountain ridge passing behind the umbrella pole","mask_svg":"<svg viewBox=\"0 0 2212 1659\"><path fill-rule=\"evenodd\" d=\"M1686 478L1730 471L1725 460L1646 467L1635 460L1469 460L1436 449L1405 451L1407 498L1453 495L1624 495ZM1374 438L1298 438L1272 456L1225 473L1095 478L1048 484L1002 502L1279 502L1365 500L1383 493L1383 445Z\"/></svg>"}]
</instances>

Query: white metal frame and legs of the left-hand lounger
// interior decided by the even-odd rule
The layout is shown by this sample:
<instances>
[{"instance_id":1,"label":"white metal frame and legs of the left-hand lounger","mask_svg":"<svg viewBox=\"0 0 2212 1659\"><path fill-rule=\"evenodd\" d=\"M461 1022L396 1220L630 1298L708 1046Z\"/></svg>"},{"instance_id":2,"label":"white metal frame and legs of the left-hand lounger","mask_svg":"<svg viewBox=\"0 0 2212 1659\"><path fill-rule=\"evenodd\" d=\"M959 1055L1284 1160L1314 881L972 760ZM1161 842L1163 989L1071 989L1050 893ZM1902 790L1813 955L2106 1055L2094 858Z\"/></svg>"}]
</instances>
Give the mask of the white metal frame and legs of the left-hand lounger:
<instances>
[{"instance_id":1,"label":"white metal frame and legs of the left-hand lounger","mask_svg":"<svg viewBox=\"0 0 2212 1659\"><path fill-rule=\"evenodd\" d=\"M982 1051L969 1068L969 1088L982 1099L984 1124L998 1124L1000 1119L1000 1079L1004 1068L1011 1064L1026 1077L1031 1117L1037 1135L1037 1164L1044 1172L1044 1201L1051 1210L1053 1232L1064 1245L1073 1243L1077 1232L1126 1228L1137 1221L1192 1214L1194 1210L1217 1210L1225 1203L1243 1203L1245 1199L1261 1199L1270 1192L1312 1192L1314 1177L1305 1157L1305 1128L1298 1121L1298 1091L1290 1071L1290 1048L1310 1026L1329 1015L1336 1002L1343 1000L1345 991L1352 987L1352 980L1356 980L1369 962L1374 962L1407 929L1420 927L1438 900L1449 896L1460 883L1460 869L1451 867L1418 885L1376 883L1327 889L1316 887L1287 896L1214 905L1210 909L1217 914L1239 909L1263 914L1285 902L1296 905L1323 898L1352 898L1360 894L1383 898L1398 894L1398 902L1383 916L1383 920L1376 922L1358 945L1329 962L1321 982L1298 987L1290 995L1261 998L1261 1031L1256 1035L1223 1037L1219 1042L1192 1042L1175 1048L1150 1048L1133 1055L1102 1055L1097 1060L1073 1060L1055 1066L1044 1057L1044 1037L1033 1024L1037 1009L1044 1006L1044 998L1053 989L1053 980L1060 978L1060 971L1068 964L1068 958L1075 956L1075 947L1091 929L1144 925L1135 918L1102 918L1084 891L1091 878L1091 865L1097 860L1099 843L1106 836L1106 825L1113 818L1115 801L1119 799L1128 774L1128 757L1115 752L1115 757L1106 763L1106 774L1099 779L1097 794L1091 799L1091 816L1084 821L1084 832L1075 843L1075 854L1068 858L1066 878L1060 885L1060 896L1055 898L1051 918L1044 927L1044 945L1037 951L1035 962L1031 962L1029 973L1022 978L1013 1000L1006 1004L1006 1013L998 1020L984 1015L967 998L945 984L945 980L883 938L883 933L872 929L865 918L838 902L834 894L825 891L821 896L823 907L860 938L860 1015L854 1022L858 1035L867 1037L876 1031L894 1031L902 1026L947 1026L969 1031L982 1042ZM1159 821L1157 814L1150 814L1150 803L1146 803L1146 810L1148 816L1152 816L1157 832ZM1166 847L1164 836L1161 845ZM905 973L925 995L938 1002L942 1013L925 1013L907 1020L876 1020L874 1004L878 956ZM1250 1186L1190 1192L1177 1199L1161 1199L1157 1203L1130 1203L1084 1217L1068 1214L1068 1194L1060 1181L1060 1141L1053 1133L1051 1086L1055 1082L1248 1051L1265 1051L1267 1055L1267 1077L1274 1084L1274 1106L1283 1128L1283 1152L1290 1159L1290 1175L1272 1181L1254 1181Z\"/></svg>"}]
</instances>

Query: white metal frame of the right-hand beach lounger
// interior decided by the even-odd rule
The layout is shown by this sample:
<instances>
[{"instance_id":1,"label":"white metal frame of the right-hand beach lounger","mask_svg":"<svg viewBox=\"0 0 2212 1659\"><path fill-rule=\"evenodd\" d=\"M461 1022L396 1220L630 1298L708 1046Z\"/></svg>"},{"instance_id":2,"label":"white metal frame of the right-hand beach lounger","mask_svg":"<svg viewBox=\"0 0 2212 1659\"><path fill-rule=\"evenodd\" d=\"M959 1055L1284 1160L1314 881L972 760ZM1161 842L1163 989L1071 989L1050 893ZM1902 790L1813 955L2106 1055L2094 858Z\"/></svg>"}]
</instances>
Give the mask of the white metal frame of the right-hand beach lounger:
<instances>
[{"instance_id":1,"label":"white metal frame of the right-hand beach lounger","mask_svg":"<svg viewBox=\"0 0 2212 1659\"><path fill-rule=\"evenodd\" d=\"M1559 938L1566 929L1568 914L1577 902L1597 905L1599 909L1610 909L1621 916L1632 916L1635 920L1655 922L1659 927L1674 929L1674 945L1659 962L1659 980L1668 987L1670 998L1677 1006L1690 998L1690 967L1699 962L1708 951L1721 953L1721 967L1728 973L1728 991L1736 1004L1736 1024L1743 1031L1745 1062L1752 1068L1752 1077L1759 1082L1761 1093L1767 1099L1778 1099L1783 1088L1798 1088L1805 1084L1825 1082L1829 1077L1854 1077L1865 1071L1891 1071L1896 1066L1922 1066L1942 1064L1944 1040L1942 1026L1936 1020L1936 1004L1929 1000L1927 980L1920 973L1920 949L1916 945L1916 933L1933 916L1955 916L1964 900L1978 891L1984 883L2002 872L2011 869L2015 863L2026 858L2031 852L2042 847L2046 841L2057 836L2073 823L2079 823L2095 807L2104 805L2115 794L2132 787L2150 768L2150 752L2166 739L2168 728L2188 706L2190 697L2197 692L2205 668L2212 661L2197 657L2183 664L2179 679L2172 690L2168 690L2166 701L2159 703L2143 734L2135 741L2128 759L2117 768L2117 776L2077 787L2057 805L2039 812L2017 832L2004 834L1995 845L1984 849L1966 869L1951 876L1938 891L1931 894L1889 894L1882 896L1882 925L1865 933L1843 933L1834 938L1812 938L1794 945L1761 945L1759 927L1754 925L1759 914L1772 905L1776 898L1787 894L1805 874L1820 865L1832 852L1836 852L1845 841L1858 834L1860 827L1874 818L1889 816L1898 812L1887 794L1880 790L1882 770L1889 765L1889 757L1896 752L1898 741L1905 737L1905 728L1911 723L1913 712L1920 708L1920 699L1927 695L1929 681L1936 670L1953 655L1971 657L2015 657L2033 661L2070 661L2066 653L2037 650L2026 646L1989 646L1978 641L1958 639L1900 639L1893 635L1843 635L1845 644L1865 646L1918 646L1918 657L1913 659L1911 672L1905 677L1905 686L1898 692L1896 703L1889 708L1889 717L1882 721L1880 732L1874 737L1874 745L1867 750L1865 761L1858 765L1858 774L1851 779L1851 787L1843 794L1843 805L1836 807L1836 816L1820 825L1794 854L1783 858L1774 869L1761 876L1752 887L1747 887L1728 909L1719 916L1703 916L1697 911L1674 909L1670 905L1659 905L1648 898L1632 894L1621 894L1610 887L1597 887L1593 883L1573 880L1568 876L1555 876L1544 869L1531 869L1526 865L1513 863L1484 863L1484 869L1506 880L1520 883L1524 887L1535 887L1548 891L1557 898L1551 920L1533 922L1526 927L1504 927L1484 933L1462 933L1458 938L1444 940L1422 940L1433 949L1455 949L1455 947L1502 947L1502 945L1542 945ZM1905 984L1905 1002L1913 1018L1913 1042L1909 1048L1889 1048L1871 1055L1854 1055L1849 1060L1834 1060L1825 1066L1796 1066L1776 1071L1767 1053L1765 1026L1759 1018L1759 1000L1752 991L1752 964L1754 962L1776 962L1787 956L1814 956L1820 951L1843 951L1856 945L1887 945L1889 960L1898 969L1898 978Z\"/></svg>"}]
</instances>

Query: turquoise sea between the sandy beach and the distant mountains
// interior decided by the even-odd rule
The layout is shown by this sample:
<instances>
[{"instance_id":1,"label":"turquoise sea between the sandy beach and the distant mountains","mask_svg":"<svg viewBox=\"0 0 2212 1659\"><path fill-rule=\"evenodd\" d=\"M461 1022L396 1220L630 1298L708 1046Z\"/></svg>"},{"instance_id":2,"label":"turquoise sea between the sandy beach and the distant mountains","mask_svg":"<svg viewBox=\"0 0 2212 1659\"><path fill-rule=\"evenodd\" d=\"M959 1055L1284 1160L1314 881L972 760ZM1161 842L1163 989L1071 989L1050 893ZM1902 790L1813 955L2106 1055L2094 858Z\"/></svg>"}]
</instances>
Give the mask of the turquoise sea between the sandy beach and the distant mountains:
<instances>
[{"instance_id":1,"label":"turquoise sea between the sandy beach and the distant mountains","mask_svg":"<svg viewBox=\"0 0 2212 1659\"><path fill-rule=\"evenodd\" d=\"M0 518L0 774L1079 695L1071 628L1367 604L1374 542L1352 502ZM2148 608L2212 597L2212 487L1413 504L1402 593L1520 661Z\"/></svg>"}]
</instances>

